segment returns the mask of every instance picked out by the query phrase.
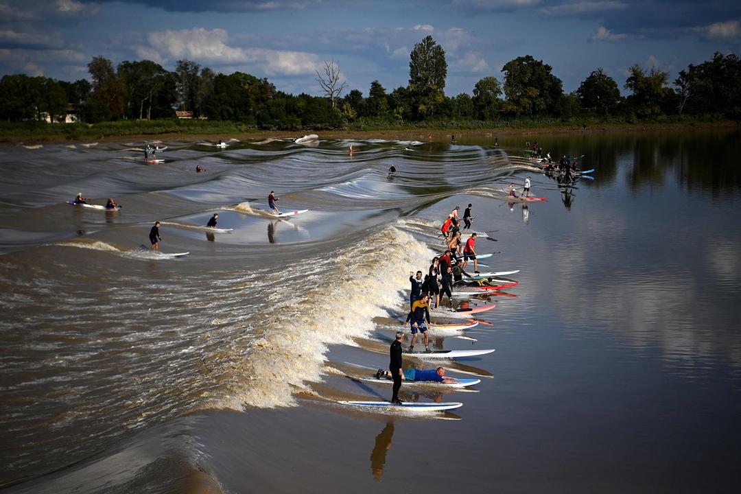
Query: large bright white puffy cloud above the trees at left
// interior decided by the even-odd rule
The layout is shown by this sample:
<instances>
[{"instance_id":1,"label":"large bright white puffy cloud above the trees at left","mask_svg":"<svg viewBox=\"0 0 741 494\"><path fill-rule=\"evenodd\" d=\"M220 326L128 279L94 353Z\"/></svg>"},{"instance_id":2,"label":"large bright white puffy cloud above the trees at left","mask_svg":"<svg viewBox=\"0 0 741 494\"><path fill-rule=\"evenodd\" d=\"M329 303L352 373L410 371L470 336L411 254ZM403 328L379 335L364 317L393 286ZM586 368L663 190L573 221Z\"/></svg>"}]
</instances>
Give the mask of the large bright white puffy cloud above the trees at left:
<instances>
[{"instance_id":1,"label":"large bright white puffy cloud above the trees at left","mask_svg":"<svg viewBox=\"0 0 741 494\"><path fill-rule=\"evenodd\" d=\"M319 59L313 53L264 48L240 48L227 44L228 34L223 29L207 30L193 27L184 30L165 30L147 35L150 47L136 47L136 53L164 64L167 58L192 59L205 63L249 64L268 74L313 73ZM164 53L164 55L163 55Z\"/></svg>"}]
</instances>

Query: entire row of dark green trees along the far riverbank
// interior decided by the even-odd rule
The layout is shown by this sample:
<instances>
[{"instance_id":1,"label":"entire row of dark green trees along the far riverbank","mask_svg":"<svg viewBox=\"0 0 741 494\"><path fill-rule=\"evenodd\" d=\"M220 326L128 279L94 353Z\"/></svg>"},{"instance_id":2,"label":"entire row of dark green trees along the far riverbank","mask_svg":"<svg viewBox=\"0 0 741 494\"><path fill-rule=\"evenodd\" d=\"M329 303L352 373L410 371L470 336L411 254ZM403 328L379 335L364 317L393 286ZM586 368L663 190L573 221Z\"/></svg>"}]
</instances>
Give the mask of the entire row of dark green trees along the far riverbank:
<instances>
[{"instance_id":1,"label":"entire row of dark green trees along the far riverbank","mask_svg":"<svg viewBox=\"0 0 741 494\"><path fill-rule=\"evenodd\" d=\"M216 74L194 61L179 60L170 72L154 61L123 61L114 67L102 56L87 64L90 81L57 81L45 77L8 75L0 80L0 119L63 121L73 105L77 118L88 123L164 119L176 110L193 118L233 121L262 129L338 128L347 124L403 124L425 121L506 122L548 117L655 119L690 115L741 117L741 60L715 53L701 64L690 64L670 85L668 73L628 69L623 97L615 79L597 68L572 93L565 93L553 67L533 56L520 56L502 67L501 80L486 76L472 94L445 96L448 64L445 50L431 36L410 53L409 81L389 92L371 82L368 96L353 89L342 96L345 83L339 66L325 62L316 72L322 96L298 96L276 90L268 79L247 73Z\"/></svg>"}]
</instances>

